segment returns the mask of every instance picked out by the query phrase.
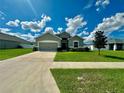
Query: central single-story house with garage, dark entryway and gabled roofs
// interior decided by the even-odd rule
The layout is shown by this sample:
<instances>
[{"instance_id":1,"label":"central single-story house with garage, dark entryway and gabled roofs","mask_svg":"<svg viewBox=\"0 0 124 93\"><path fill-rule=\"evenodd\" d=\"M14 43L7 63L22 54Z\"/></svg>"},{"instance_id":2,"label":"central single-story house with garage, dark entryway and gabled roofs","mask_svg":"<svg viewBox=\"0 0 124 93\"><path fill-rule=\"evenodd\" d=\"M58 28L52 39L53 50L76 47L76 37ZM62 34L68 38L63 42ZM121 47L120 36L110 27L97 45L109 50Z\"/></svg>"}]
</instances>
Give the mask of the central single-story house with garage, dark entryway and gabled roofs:
<instances>
[{"instance_id":1,"label":"central single-story house with garage, dark entryway and gabled roofs","mask_svg":"<svg viewBox=\"0 0 124 93\"><path fill-rule=\"evenodd\" d=\"M82 48L83 39L79 36L71 36L67 32L60 34L51 34L49 32L36 38L39 50L56 51L57 48L68 50L69 48Z\"/></svg>"}]
</instances>

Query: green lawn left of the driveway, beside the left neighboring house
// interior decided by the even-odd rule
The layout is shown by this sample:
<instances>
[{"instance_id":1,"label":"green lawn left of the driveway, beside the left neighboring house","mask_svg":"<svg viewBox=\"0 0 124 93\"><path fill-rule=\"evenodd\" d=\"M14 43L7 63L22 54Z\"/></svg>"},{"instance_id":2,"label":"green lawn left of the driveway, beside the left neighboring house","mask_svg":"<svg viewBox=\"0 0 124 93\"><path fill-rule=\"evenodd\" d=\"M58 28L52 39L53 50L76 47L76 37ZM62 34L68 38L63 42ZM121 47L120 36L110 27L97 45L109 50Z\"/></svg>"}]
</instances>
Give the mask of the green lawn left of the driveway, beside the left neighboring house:
<instances>
[{"instance_id":1,"label":"green lawn left of the driveway, beside the left neighboring house","mask_svg":"<svg viewBox=\"0 0 124 93\"><path fill-rule=\"evenodd\" d=\"M23 54L31 53L32 49L5 49L0 50L0 60L17 57Z\"/></svg>"}]
</instances>

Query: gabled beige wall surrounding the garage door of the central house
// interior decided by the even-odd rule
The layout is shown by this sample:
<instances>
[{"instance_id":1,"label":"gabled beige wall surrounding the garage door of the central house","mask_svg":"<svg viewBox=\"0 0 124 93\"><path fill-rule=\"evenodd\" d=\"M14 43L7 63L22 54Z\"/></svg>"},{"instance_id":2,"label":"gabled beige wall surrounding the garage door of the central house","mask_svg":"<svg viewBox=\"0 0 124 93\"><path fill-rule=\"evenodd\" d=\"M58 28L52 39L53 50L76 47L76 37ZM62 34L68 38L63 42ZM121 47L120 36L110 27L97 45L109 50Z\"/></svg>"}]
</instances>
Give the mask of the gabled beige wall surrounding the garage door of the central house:
<instances>
[{"instance_id":1,"label":"gabled beige wall surrounding the garage door of the central house","mask_svg":"<svg viewBox=\"0 0 124 93\"><path fill-rule=\"evenodd\" d=\"M59 39L56 36L53 36L49 33L44 34L43 36L36 39L37 46L38 46L38 43L41 42L41 41L57 41L58 42L58 47L61 46L61 39Z\"/></svg>"}]
</instances>

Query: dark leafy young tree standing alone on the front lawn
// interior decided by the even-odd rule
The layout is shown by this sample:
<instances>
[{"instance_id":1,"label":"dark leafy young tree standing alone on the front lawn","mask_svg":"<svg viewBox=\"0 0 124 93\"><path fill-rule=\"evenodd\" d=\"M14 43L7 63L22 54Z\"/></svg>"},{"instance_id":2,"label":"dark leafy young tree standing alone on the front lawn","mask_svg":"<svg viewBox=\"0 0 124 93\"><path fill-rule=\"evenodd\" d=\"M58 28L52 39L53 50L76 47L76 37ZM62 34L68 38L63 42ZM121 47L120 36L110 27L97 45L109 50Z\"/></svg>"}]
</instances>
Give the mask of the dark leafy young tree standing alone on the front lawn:
<instances>
[{"instance_id":1,"label":"dark leafy young tree standing alone on the front lawn","mask_svg":"<svg viewBox=\"0 0 124 93\"><path fill-rule=\"evenodd\" d=\"M104 35L104 31L96 31L94 38L94 46L98 49L98 55L100 55L101 48L105 48L107 45L107 37Z\"/></svg>"}]
</instances>

